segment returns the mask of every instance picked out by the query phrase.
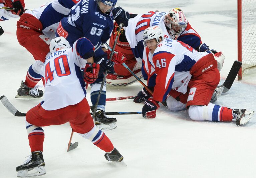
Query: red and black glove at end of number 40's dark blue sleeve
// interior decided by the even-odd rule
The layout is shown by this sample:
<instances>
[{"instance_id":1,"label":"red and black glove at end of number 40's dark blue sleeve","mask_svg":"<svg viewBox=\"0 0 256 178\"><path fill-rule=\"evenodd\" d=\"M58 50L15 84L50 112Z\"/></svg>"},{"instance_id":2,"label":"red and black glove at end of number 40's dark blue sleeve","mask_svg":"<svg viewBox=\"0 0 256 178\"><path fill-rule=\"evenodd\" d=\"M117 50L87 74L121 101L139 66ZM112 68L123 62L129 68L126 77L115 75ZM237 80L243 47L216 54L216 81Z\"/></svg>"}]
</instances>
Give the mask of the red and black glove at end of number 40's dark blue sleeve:
<instances>
[{"instance_id":1,"label":"red and black glove at end of number 40's dark blue sleeve","mask_svg":"<svg viewBox=\"0 0 256 178\"><path fill-rule=\"evenodd\" d=\"M91 84L95 82L95 80L98 78L99 74L99 64L94 63L87 63L84 68L84 79L83 81Z\"/></svg>"}]
</instances>

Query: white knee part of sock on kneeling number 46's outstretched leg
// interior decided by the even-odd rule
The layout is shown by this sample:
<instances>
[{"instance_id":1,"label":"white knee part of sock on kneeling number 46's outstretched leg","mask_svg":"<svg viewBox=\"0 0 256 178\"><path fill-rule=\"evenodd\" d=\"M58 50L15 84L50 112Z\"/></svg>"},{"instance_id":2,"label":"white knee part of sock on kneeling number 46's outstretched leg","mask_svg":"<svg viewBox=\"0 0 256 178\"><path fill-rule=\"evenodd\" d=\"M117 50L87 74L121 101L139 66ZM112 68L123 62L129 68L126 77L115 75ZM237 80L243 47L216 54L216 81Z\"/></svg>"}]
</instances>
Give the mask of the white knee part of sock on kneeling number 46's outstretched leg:
<instances>
[{"instance_id":1,"label":"white knee part of sock on kneeling number 46's outstretched leg","mask_svg":"<svg viewBox=\"0 0 256 178\"><path fill-rule=\"evenodd\" d=\"M204 113L207 111L207 106L192 105L189 107L189 117L194 121L204 121Z\"/></svg>"}]
</instances>

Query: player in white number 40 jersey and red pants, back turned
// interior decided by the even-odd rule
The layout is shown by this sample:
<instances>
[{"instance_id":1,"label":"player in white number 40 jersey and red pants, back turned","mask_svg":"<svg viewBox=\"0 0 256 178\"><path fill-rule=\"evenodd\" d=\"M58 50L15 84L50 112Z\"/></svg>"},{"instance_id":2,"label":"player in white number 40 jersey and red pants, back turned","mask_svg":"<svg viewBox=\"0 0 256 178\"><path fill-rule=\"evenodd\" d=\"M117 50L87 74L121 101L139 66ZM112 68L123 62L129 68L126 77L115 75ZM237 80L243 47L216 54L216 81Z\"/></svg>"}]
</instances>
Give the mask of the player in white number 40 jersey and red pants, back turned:
<instances>
[{"instance_id":1,"label":"player in white number 40 jersey and red pants, back turned","mask_svg":"<svg viewBox=\"0 0 256 178\"><path fill-rule=\"evenodd\" d=\"M95 127L85 98L85 84L97 79L99 64L93 62L94 47L86 38L78 39L73 47L63 37L51 40L51 55L41 70L45 87L43 101L26 114L30 159L16 168L18 177L46 174L43 159L43 126L70 123L72 130L105 151L107 161L121 162L123 156L105 133ZM85 70L84 79L81 69ZM54 99L53 99L54 98ZM35 170L35 173L28 171Z\"/></svg>"}]
</instances>

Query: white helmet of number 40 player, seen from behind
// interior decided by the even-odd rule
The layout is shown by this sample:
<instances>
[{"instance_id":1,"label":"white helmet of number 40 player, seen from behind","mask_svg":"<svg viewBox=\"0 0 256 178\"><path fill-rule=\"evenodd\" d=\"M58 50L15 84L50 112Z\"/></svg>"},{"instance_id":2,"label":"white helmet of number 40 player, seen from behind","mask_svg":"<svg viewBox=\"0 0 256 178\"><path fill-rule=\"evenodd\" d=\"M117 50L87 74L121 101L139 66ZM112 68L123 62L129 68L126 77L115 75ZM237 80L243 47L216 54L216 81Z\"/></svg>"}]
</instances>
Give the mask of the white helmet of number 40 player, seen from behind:
<instances>
[{"instance_id":1,"label":"white helmet of number 40 player, seen from behind","mask_svg":"<svg viewBox=\"0 0 256 178\"><path fill-rule=\"evenodd\" d=\"M70 45L64 37L57 37L51 40L50 52L54 53L59 50L68 49Z\"/></svg>"}]
</instances>

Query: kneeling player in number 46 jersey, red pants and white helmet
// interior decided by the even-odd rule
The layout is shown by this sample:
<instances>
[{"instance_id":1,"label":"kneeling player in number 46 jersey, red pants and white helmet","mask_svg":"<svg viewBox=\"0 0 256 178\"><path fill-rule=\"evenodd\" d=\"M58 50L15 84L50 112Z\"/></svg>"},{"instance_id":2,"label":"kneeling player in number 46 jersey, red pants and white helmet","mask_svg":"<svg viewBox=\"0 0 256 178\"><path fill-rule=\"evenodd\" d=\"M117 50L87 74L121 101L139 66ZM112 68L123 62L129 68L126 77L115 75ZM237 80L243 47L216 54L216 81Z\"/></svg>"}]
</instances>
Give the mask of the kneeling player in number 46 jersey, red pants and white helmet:
<instances>
[{"instance_id":1,"label":"kneeling player in number 46 jersey, red pants and white helmet","mask_svg":"<svg viewBox=\"0 0 256 178\"><path fill-rule=\"evenodd\" d=\"M150 51L149 61L157 75L153 98L145 100L144 118L155 118L157 102L167 99L172 111L188 108L189 117L195 121L232 121L246 124L254 111L230 109L210 102L220 81L217 61L213 54L198 52L191 46L172 38L165 38L160 27L144 31L144 45Z\"/></svg>"}]
</instances>

